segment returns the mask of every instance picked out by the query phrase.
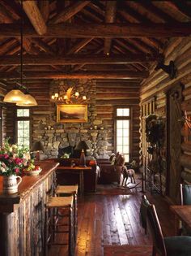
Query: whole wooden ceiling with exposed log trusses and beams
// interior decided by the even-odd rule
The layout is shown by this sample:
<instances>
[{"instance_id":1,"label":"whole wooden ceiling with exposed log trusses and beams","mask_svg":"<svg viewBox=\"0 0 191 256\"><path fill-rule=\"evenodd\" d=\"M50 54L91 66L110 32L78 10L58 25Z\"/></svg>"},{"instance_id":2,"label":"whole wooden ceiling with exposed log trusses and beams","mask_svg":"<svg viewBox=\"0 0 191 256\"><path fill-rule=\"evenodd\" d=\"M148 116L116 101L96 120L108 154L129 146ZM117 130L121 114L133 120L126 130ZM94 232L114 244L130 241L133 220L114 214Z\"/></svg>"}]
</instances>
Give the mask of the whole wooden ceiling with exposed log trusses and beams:
<instances>
[{"instance_id":1,"label":"whole wooden ceiling with exposed log trusses and beams","mask_svg":"<svg viewBox=\"0 0 191 256\"><path fill-rule=\"evenodd\" d=\"M20 77L21 13L0 1L0 80ZM190 21L189 1L23 1L23 76L142 81Z\"/></svg>"}]
</instances>

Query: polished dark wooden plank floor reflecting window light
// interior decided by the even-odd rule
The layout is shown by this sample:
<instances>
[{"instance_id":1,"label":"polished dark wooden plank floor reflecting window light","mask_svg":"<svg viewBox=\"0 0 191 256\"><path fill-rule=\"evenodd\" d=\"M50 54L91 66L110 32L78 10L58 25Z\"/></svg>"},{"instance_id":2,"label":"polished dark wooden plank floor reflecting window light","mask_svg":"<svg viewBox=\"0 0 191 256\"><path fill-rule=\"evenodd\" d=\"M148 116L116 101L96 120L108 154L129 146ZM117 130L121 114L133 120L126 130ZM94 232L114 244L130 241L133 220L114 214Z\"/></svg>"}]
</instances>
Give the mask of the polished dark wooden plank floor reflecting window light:
<instances>
[{"instance_id":1,"label":"polished dark wooden plank floor reflecting window light","mask_svg":"<svg viewBox=\"0 0 191 256\"><path fill-rule=\"evenodd\" d=\"M138 189L140 190L140 189ZM139 223L142 193L134 189L129 195L85 195L79 200L79 230L75 256L102 256L104 245L151 245ZM159 195L147 197L155 203L164 236L173 235L173 215L168 203ZM66 249L57 250L65 255ZM67 255L67 254L66 254Z\"/></svg>"}]
</instances>

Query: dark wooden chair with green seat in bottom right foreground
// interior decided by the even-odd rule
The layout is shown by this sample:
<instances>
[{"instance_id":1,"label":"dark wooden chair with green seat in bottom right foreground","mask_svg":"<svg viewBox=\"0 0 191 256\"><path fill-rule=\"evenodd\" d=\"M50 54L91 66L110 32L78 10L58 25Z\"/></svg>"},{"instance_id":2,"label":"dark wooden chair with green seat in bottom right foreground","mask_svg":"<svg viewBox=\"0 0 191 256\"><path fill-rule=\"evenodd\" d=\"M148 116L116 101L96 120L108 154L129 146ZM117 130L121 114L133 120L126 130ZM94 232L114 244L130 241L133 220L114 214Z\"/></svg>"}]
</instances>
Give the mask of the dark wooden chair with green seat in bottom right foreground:
<instances>
[{"instance_id":1,"label":"dark wooden chair with green seat in bottom right foreground","mask_svg":"<svg viewBox=\"0 0 191 256\"><path fill-rule=\"evenodd\" d=\"M163 232L154 205L150 205L147 208L147 220L151 229L151 236L153 240L152 256L191 255L191 236L163 237Z\"/></svg>"}]
</instances>

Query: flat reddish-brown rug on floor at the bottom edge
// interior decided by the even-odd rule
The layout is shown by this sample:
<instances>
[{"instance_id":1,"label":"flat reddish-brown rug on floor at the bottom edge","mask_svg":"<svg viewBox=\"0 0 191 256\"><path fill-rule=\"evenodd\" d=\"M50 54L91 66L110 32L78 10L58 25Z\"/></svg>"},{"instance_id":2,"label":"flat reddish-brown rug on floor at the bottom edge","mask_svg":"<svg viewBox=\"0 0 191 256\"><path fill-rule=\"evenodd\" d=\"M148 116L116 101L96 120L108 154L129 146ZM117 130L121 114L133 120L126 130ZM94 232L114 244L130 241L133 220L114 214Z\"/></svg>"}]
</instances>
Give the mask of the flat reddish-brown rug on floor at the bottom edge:
<instances>
[{"instance_id":1,"label":"flat reddish-brown rug on floor at the bottom edge","mask_svg":"<svg viewBox=\"0 0 191 256\"><path fill-rule=\"evenodd\" d=\"M151 256L151 245L104 245L104 256Z\"/></svg>"}]
</instances>

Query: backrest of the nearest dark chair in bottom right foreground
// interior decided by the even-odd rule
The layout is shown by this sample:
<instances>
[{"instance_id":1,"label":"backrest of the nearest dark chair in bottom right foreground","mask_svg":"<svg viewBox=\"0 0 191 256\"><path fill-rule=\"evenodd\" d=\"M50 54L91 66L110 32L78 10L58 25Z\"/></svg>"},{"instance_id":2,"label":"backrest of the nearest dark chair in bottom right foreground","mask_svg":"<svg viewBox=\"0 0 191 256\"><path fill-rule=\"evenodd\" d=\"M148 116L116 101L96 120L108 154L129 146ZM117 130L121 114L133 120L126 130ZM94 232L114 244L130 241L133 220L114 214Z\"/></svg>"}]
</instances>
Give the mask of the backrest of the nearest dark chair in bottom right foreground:
<instances>
[{"instance_id":1,"label":"backrest of the nearest dark chair in bottom right foreground","mask_svg":"<svg viewBox=\"0 0 191 256\"><path fill-rule=\"evenodd\" d=\"M163 232L159 223L159 219L154 205L150 205L147 208L147 221L151 229L151 236L153 241L153 250L155 253L161 256L167 256Z\"/></svg>"}]
</instances>

